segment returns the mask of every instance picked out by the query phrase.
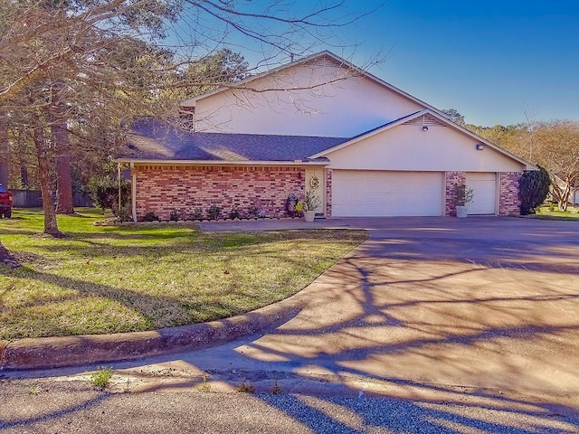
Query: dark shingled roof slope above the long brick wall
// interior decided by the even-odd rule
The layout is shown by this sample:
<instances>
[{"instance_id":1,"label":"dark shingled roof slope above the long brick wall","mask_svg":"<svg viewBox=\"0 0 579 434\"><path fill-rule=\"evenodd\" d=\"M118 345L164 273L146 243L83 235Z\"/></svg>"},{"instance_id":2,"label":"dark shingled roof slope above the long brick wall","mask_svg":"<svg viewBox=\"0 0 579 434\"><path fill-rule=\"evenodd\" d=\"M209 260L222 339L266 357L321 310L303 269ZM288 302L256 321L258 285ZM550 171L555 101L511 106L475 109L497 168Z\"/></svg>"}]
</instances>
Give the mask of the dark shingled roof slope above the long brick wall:
<instances>
[{"instance_id":1,"label":"dark shingled roof slope above the long brick wall","mask_svg":"<svg viewBox=\"0 0 579 434\"><path fill-rule=\"evenodd\" d=\"M141 118L119 156L126 161L296 162L346 142L347 137L196 133Z\"/></svg>"}]
</instances>

